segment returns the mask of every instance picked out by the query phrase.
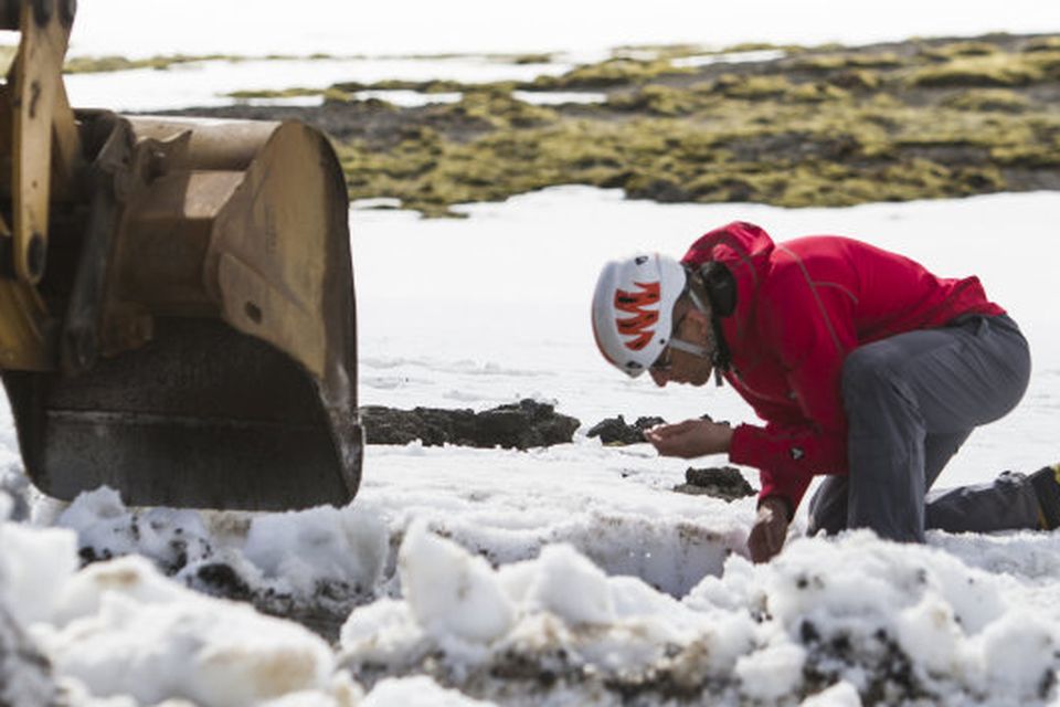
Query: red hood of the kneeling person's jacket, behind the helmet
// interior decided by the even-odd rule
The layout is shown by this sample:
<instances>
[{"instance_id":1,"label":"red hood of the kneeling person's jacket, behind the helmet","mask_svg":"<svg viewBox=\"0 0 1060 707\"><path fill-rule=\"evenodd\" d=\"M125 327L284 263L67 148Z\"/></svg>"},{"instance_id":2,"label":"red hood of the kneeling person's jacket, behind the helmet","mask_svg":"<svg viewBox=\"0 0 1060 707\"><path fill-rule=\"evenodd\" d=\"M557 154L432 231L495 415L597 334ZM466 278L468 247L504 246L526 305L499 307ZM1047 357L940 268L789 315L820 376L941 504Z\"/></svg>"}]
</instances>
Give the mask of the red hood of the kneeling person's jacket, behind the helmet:
<instances>
[{"instance_id":1,"label":"red hood of the kneeling person's jacket, behind the helmet","mask_svg":"<svg viewBox=\"0 0 1060 707\"><path fill-rule=\"evenodd\" d=\"M693 267L716 261L732 273L736 283L736 306L730 316L721 319L730 347L740 347L752 328L773 247L773 239L760 226L733 221L701 235L681 258L682 263Z\"/></svg>"}]
</instances>

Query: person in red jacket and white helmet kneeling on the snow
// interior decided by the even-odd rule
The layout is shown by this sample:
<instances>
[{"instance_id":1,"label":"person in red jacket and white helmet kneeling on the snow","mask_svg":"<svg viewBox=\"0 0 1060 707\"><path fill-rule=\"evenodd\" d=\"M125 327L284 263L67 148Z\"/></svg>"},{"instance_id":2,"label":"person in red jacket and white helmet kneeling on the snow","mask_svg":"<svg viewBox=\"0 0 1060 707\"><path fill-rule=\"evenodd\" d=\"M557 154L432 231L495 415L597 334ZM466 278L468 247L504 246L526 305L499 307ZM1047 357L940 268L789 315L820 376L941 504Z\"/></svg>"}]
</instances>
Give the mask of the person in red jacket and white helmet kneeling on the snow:
<instances>
[{"instance_id":1,"label":"person in red jacket and white helmet kneeling on the snow","mask_svg":"<svg viewBox=\"0 0 1060 707\"><path fill-rule=\"evenodd\" d=\"M606 264L593 329L629 376L724 379L765 422L687 420L646 433L662 455L727 453L760 471L748 540L756 561L781 550L816 474L828 477L810 500L810 532L871 528L918 542L925 528L1060 525L1060 469L929 494L972 431L1019 402L1030 374L1026 339L977 277L939 277L847 238L774 243L734 222L680 262Z\"/></svg>"}]
</instances>

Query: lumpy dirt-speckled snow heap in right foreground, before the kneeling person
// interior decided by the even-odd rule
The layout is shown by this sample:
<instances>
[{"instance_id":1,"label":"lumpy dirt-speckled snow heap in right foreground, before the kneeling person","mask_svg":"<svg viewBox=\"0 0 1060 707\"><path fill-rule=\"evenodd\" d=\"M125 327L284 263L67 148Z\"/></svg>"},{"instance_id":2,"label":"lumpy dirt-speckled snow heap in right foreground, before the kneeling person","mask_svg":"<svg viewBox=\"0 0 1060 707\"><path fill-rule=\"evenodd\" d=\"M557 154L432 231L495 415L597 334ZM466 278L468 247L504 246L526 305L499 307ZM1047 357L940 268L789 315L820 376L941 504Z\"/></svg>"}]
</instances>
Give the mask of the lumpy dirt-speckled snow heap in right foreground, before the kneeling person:
<instances>
[{"instance_id":1,"label":"lumpy dirt-speckled snow heap in right foreground, before the kneeling person","mask_svg":"<svg viewBox=\"0 0 1060 707\"><path fill-rule=\"evenodd\" d=\"M417 524L400 557L402 598L341 631L368 684L418 673L504 704L1041 704L1060 668L1060 610L1022 608L1048 588L867 531L766 566L732 556L682 600L562 545L492 569Z\"/></svg>"}]
</instances>

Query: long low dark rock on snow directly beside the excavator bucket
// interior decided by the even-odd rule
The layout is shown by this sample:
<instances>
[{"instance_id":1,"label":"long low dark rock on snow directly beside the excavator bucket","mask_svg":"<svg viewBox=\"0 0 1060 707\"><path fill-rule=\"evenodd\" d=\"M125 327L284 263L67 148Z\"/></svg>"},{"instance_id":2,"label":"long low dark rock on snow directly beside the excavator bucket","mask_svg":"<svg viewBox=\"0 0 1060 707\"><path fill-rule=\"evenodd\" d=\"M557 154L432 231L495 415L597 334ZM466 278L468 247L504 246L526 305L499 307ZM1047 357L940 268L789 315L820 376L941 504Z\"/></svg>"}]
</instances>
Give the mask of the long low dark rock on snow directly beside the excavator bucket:
<instances>
[{"instance_id":1,"label":"long low dark rock on snow directly beside the excavator bucket","mask_svg":"<svg viewBox=\"0 0 1060 707\"><path fill-rule=\"evenodd\" d=\"M426 446L527 450L570 442L581 425L576 419L556 413L553 405L529 399L479 413L466 409L394 410L380 405L361 408L360 412L369 444L409 444L421 440Z\"/></svg>"}]
</instances>

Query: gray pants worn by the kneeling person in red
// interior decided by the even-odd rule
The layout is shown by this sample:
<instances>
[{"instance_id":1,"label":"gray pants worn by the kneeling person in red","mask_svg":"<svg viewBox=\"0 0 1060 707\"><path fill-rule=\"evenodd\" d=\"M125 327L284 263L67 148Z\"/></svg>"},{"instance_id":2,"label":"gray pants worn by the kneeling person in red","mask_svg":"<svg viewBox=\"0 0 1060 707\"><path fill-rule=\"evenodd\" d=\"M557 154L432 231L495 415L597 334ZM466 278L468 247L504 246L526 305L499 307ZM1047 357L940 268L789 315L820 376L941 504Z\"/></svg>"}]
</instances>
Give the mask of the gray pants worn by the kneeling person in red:
<instances>
[{"instance_id":1,"label":"gray pants worn by the kneeling person in red","mask_svg":"<svg viewBox=\"0 0 1060 707\"><path fill-rule=\"evenodd\" d=\"M1038 502L1022 474L928 493L973 429L1016 407L1029 378L1027 340L1007 316L963 317L855 349L842 368L850 473L817 489L809 532L871 528L923 542L925 527L1037 528Z\"/></svg>"}]
</instances>

